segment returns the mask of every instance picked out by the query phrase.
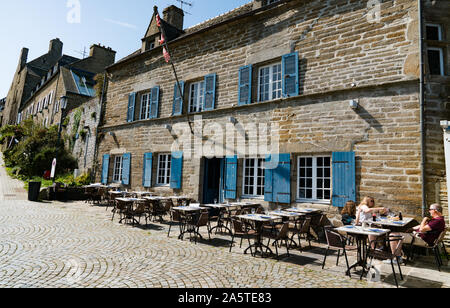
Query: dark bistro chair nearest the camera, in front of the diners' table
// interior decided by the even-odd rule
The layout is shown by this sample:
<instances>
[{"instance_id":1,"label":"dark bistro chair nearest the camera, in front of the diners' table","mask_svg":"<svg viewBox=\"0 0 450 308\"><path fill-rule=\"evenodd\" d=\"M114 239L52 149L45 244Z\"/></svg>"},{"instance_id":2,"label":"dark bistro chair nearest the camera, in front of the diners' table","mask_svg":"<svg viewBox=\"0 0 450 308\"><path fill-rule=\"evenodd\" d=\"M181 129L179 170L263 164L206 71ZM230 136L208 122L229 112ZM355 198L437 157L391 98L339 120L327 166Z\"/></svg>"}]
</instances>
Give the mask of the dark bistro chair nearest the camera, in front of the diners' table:
<instances>
[{"instance_id":1,"label":"dark bistro chair nearest the camera, in front of the diners' table","mask_svg":"<svg viewBox=\"0 0 450 308\"><path fill-rule=\"evenodd\" d=\"M404 236L394 236L394 235L390 235L389 239L387 238L377 238L376 240L373 240L370 242L370 245L368 247L367 250L367 254L366 254L366 260L365 263L367 264L367 259L370 258L370 264L368 266L368 269L370 270L370 268L372 267L372 261L373 259L377 259L377 260L391 260L391 267L392 267L392 273L394 274L394 280L395 280L395 285L398 288L398 281L397 281L397 276L395 274L395 268L394 268L394 260L397 258L397 255L399 255L399 250L401 249L401 243L404 240ZM391 242L397 242L397 247L394 251L394 253L392 253L391 251L391 246L390 243ZM378 244L378 245L377 245ZM372 248L372 247L385 247L385 250L380 250L377 248ZM400 272L400 279L403 280L403 274L402 274L402 269L400 267L400 263L397 263L398 265L398 270ZM365 268L363 267L363 271L361 273L361 277L360 279L362 279L362 277L365 274Z\"/></svg>"}]
</instances>

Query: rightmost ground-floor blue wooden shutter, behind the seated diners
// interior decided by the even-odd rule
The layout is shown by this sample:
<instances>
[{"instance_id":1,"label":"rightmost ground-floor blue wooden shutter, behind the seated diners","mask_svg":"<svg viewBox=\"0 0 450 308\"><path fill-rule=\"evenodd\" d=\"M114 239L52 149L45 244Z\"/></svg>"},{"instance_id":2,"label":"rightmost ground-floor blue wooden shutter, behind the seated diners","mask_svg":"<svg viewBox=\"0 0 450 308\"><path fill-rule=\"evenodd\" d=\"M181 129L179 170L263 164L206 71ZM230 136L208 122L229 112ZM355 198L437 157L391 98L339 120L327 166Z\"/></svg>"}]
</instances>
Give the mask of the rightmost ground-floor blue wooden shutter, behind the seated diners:
<instances>
[{"instance_id":1,"label":"rightmost ground-floor blue wooden shutter, behind the seated diners","mask_svg":"<svg viewBox=\"0 0 450 308\"><path fill-rule=\"evenodd\" d=\"M333 164L332 204L344 207L349 200L356 202L355 152L335 152Z\"/></svg>"}]
</instances>

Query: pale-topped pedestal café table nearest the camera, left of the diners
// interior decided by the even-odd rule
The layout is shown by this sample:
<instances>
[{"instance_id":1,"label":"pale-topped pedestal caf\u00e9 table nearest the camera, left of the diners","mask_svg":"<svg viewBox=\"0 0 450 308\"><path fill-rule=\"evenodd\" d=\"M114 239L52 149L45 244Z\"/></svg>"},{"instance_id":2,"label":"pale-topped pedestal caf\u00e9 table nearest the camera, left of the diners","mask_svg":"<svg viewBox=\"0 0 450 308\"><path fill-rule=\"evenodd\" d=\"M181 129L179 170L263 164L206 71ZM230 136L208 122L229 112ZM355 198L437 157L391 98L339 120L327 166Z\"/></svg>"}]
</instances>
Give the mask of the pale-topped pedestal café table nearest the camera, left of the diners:
<instances>
[{"instance_id":1,"label":"pale-topped pedestal caf\u00e9 table nearest the camera, left of the diners","mask_svg":"<svg viewBox=\"0 0 450 308\"><path fill-rule=\"evenodd\" d=\"M366 271L368 270L367 264L366 264L366 253L367 253L366 242L367 242L367 237L369 235L378 237L378 236L383 236L383 235L389 234L391 232L391 230L388 230L388 229L378 229L378 228L371 228L371 227L363 228L361 226L352 226L352 225L336 228L335 231L345 232L347 234L352 235L353 237L355 237L356 244L358 246L357 261L355 264L350 266L350 268L347 271L347 275L350 274L350 270L352 268L355 268L357 266L363 267L363 269Z\"/></svg>"}]
</instances>

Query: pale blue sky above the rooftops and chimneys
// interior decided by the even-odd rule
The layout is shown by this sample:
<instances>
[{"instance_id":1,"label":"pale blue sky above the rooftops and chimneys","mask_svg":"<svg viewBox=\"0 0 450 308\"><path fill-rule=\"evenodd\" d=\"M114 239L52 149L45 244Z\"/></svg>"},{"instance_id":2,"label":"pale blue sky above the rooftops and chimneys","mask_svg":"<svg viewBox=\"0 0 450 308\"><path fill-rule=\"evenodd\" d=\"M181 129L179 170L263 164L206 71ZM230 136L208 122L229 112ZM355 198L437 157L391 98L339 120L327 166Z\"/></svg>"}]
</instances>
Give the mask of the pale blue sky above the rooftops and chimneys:
<instances>
[{"instance_id":1,"label":"pale blue sky above the rooftops and chimneys","mask_svg":"<svg viewBox=\"0 0 450 308\"><path fill-rule=\"evenodd\" d=\"M251 0L186 0L184 28L213 18ZM162 11L177 0L14 0L0 1L0 99L6 97L23 47L28 62L47 53L59 38L63 54L83 57L93 44L117 51L116 61L141 47L153 6Z\"/></svg>"}]
</instances>

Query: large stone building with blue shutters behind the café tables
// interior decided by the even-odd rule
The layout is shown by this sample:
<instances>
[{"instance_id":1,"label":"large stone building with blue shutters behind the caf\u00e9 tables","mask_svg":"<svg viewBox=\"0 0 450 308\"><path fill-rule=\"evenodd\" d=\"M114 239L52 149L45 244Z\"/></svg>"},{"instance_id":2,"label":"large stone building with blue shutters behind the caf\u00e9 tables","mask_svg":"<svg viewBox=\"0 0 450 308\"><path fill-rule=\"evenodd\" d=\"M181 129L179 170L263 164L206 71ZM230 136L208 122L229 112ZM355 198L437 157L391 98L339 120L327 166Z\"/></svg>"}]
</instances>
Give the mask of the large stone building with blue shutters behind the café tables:
<instances>
[{"instance_id":1,"label":"large stone building with blue shutters behind the caf\u00e9 tables","mask_svg":"<svg viewBox=\"0 0 450 308\"><path fill-rule=\"evenodd\" d=\"M449 3L422 2L423 23L417 0L255 0L188 29L170 7L180 87L153 16L142 47L107 69L97 180L331 217L371 195L421 216L447 198L450 80Z\"/></svg>"}]
</instances>

